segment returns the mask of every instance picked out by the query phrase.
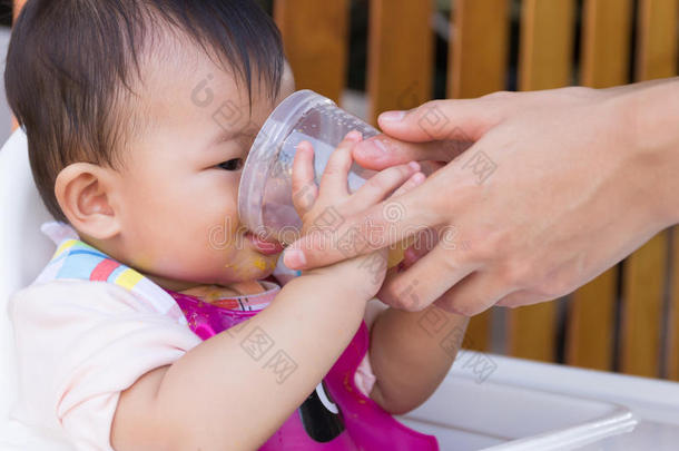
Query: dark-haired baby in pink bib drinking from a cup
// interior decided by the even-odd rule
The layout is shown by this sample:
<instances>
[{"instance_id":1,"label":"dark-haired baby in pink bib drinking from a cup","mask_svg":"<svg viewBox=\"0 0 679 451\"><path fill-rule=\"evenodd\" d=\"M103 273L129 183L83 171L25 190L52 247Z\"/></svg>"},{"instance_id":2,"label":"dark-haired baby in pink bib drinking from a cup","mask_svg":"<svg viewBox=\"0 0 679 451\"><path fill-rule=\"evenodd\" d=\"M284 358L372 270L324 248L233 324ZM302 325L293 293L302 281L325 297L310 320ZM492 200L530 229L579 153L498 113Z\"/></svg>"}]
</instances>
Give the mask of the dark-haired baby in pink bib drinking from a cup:
<instances>
[{"instance_id":1,"label":"dark-haired baby in pink bib drinking from a cup","mask_svg":"<svg viewBox=\"0 0 679 451\"><path fill-rule=\"evenodd\" d=\"M52 261L9 306L14 418L78 450L436 449L388 413L434 392L466 320L367 308L386 249L281 287L282 246L239 223L249 146L294 90L254 1L30 0L6 87L60 220L43 226ZM326 208L351 215L422 183L413 163L350 195L360 139L318 186L299 146L303 233Z\"/></svg>"}]
</instances>

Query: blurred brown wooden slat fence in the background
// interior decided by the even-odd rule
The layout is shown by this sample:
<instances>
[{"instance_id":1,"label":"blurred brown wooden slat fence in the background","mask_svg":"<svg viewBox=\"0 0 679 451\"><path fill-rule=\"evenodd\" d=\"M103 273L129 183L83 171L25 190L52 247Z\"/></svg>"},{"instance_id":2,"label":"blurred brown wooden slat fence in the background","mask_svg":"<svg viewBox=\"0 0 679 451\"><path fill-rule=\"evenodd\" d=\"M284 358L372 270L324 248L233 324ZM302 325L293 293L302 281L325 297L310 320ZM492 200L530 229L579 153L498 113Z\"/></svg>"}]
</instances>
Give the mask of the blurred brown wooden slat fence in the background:
<instances>
[{"instance_id":1,"label":"blurred brown wooden slat fence in the background","mask_svg":"<svg viewBox=\"0 0 679 451\"><path fill-rule=\"evenodd\" d=\"M434 98L604 88L677 76L679 65L679 0L258 1L282 30L297 89L373 125L381 111ZM11 17L6 2L3 48ZM4 140L6 102L0 116ZM679 380L679 233L662 232L563 298L474 317L464 345Z\"/></svg>"}]
</instances>

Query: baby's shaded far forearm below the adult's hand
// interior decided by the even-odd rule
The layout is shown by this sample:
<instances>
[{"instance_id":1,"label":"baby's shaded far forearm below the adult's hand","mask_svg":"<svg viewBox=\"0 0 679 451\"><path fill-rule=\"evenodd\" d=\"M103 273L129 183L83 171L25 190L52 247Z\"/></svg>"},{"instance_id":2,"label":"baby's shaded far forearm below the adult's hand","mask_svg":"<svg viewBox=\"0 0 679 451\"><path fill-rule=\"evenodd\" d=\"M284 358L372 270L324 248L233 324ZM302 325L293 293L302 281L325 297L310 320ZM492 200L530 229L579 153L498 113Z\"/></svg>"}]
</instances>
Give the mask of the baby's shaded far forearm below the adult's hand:
<instances>
[{"instance_id":1,"label":"baby's shaded far forearm below the adult's hand","mask_svg":"<svg viewBox=\"0 0 679 451\"><path fill-rule=\"evenodd\" d=\"M371 398L400 414L426 401L447 374L469 318L435 305L421 312L387 308L371 331Z\"/></svg>"}]
</instances>

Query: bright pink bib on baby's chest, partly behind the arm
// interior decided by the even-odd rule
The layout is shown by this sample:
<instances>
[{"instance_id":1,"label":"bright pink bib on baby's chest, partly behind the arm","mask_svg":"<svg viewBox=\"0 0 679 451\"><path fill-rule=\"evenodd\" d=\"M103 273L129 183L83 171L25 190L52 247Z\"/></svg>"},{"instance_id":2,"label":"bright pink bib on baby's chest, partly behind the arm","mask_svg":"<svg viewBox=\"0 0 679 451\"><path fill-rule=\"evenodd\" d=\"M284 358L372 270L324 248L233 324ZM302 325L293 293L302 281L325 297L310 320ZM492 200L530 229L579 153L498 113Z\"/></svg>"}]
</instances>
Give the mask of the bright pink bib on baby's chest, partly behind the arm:
<instances>
[{"instance_id":1,"label":"bright pink bib on baby's chest, partly behind the arm","mask_svg":"<svg viewBox=\"0 0 679 451\"><path fill-rule=\"evenodd\" d=\"M260 312L222 308L187 294L168 293L184 312L191 331L203 340ZM259 451L439 450L435 437L401 424L354 384L356 367L367 352L368 335L363 322L323 383ZM336 409L332 410L337 412L328 409L321 398L334 403Z\"/></svg>"}]
</instances>

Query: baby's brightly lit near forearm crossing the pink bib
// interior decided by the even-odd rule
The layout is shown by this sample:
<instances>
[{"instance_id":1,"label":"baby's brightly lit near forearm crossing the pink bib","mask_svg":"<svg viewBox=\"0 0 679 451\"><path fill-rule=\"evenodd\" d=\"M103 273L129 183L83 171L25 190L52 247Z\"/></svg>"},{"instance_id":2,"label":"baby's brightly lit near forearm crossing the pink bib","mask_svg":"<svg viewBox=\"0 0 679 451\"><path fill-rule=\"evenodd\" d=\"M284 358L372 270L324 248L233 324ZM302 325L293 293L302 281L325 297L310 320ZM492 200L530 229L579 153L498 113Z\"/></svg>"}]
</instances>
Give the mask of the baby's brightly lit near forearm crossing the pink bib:
<instances>
[{"instance_id":1,"label":"baby's brightly lit near forearm crossing the pink bib","mask_svg":"<svg viewBox=\"0 0 679 451\"><path fill-rule=\"evenodd\" d=\"M175 362L155 401L176 428L173 449L252 450L266 441L358 329L367 300L346 291L323 275L293 280L262 313Z\"/></svg>"}]
</instances>

